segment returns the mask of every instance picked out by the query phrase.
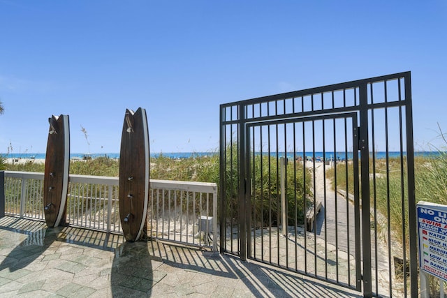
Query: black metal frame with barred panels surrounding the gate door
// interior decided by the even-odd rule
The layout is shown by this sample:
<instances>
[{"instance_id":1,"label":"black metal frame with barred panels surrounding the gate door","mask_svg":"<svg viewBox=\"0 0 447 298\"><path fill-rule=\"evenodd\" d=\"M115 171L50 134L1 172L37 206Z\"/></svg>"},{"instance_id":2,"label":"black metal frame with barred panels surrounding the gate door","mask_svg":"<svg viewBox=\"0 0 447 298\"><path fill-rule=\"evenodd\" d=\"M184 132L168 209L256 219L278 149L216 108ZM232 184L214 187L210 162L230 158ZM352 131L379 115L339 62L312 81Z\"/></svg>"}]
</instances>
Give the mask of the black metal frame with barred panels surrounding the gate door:
<instances>
[{"instance_id":1,"label":"black metal frame with barred panels surrounding the gate door","mask_svg":"<svg viewBox=\"0 0 447 298\"><path fill-rule=\"evenodd\" d=\"M397 80L397 98L387 98L387 83ZM384 86L383 100L374 98L373 89L376 84ZM402 88L402 85L404 87ZM351 105L346 104L345 98L343 103L334 103L334 92L342 92L343 96L346 91L353 90L354 102ZM323 94L332 93L332 106L325 108L323 105ZM321 108L314 107L314 95L321 94ZM288 111L286 109L286 100L295 100L295 98L303 98L305 96L312 97L312 108L301 111ZM282 113L275 112L274 114L263 114L261 107L270 105L270 103L284 100L284 111ZM376 102L374 102L374 100ZM260 112L255 112L259 107ZM362 198L361 221L362 221L362 281L363 281L363 295L371 297L372 292L372 248L371 248L371 211L372 206L369 193L370 185L369 179L369 154L374 152L374 111L385 111L385 126L386 133L388 133L388 109L397 108L399 112L400 123L400 154L402 160L402 216L408 216L409 228L404 230L404 237L408 237L409 256L406 255L405 243L404 246L404 262L409 263L409 272L404 266L404 295L407 295L406 284L409 281L411 286L411 297L418 295L418 265L417 265L417 235L416 235L416 200L414 193L414 158L413 158L413 117L411 107L411 73L396 73L392 75L384 75L381 77L372 77L363 80L356 80L351 82L344 82L341 84L332 84L325 87L317 87L312 89L305 89L301 91L288 92L286 94L276 94L273 96L265 96L261 98L254 98L249 100L237 101L234 103L223 104L220 107L220 206L219 206L219 220L220 220L220 251L221 253L232 253L239 256L242 260L247 260L249 255L249 195L247 195L249 188L249 170L247 169L247 154L249 148L249 137L247 135L247 126L254 124L263 124L267 121L284 121L284 119L300 119L302 117L313 117L322 115L345 114L354 112L358 114L358 150L360 151L360 183L362 185L360 195ZM229 128L229 129L228 129ZM233 128L235 128L233 130ZM229 132L229 134L228 134ZM237 134L234 136L233 134ZM388 163L388 135L386 136L386 154ZM372 147L372 148L371 148ZM405 148L405 151L403 151ZM405 152L405 153L404 153ZM228 158L230 154L230 158ZM233 155L235 154L235 156ZM403 168L403 157L405 157L406 168ZM228 178L226 174L229 171L232 175L237 176L237 181L228 189L226 184ZM375 173L375 160L372 161L373 173ZM405 172L405 174L404 174ZM404 181L405 180L405 181ZM404 186L406 182L406 186ZM228 196L239 198L239 206L230 206L235 209L237 218L227 217L228 212ZM406 197L406 198L405 198ZM404 208L408 208L408 214L405 214ZM375 209L374 209L375 210ZM374 211L375 212L375 211ZM233 226L237 227L237 250L233 250L232 246L227 248L227 225L230 221L230 229ZM388 223L389 225L389 223ZM233 230L230 230L233 234ZM409 278L407 274L409 273ZM391 285L390 285L391 290ZM380 293L376 292L376 295Z\"/></svg>"}]
</instances>

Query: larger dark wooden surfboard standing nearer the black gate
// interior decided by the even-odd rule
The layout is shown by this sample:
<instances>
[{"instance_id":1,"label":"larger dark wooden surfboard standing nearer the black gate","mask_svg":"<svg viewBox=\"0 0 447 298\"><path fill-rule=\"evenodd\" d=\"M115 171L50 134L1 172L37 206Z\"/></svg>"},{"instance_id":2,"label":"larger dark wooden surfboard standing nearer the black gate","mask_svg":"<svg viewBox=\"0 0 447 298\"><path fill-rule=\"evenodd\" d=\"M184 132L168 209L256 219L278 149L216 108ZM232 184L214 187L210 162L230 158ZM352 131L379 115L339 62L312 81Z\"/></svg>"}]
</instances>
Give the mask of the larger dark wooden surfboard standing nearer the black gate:
<instances>
[{"instance_id":1,"label":"larger dark wooden surfboard standing nearer the black gate","mask_svg":"<svg viewBox=\"0 0 447 298\"><path fill-rule=\"evenodd\" d=\"M140 239L149 197L149 132L146 110L126 110L119 151L119 218L127 241Z\"/></svg>"}]
</instances>

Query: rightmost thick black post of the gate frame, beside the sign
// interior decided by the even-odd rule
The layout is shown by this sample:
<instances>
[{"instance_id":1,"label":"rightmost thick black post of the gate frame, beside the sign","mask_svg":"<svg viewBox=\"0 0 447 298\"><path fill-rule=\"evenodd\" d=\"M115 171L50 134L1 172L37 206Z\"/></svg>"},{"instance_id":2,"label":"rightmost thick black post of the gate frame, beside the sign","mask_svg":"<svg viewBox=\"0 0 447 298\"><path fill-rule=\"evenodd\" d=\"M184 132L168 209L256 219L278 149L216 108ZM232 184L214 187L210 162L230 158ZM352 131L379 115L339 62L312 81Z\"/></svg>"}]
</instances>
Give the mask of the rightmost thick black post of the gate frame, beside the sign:
<instances>
[{"instance_id":1,"label":"rightmost thick black post of the gate frame, beside the sign","mask_svg":"<svg viewBox=\"0 0 447 298\"><path fill-rule=\"evenodd\" d=\"M418 295L418 244L416 224L416 198L414 186L413 107L411 104L411 73L404 77L406 119L406 167L408 172L409 248L411 297Z\"/></svg>"}]
</instances>

